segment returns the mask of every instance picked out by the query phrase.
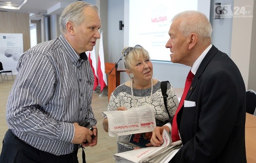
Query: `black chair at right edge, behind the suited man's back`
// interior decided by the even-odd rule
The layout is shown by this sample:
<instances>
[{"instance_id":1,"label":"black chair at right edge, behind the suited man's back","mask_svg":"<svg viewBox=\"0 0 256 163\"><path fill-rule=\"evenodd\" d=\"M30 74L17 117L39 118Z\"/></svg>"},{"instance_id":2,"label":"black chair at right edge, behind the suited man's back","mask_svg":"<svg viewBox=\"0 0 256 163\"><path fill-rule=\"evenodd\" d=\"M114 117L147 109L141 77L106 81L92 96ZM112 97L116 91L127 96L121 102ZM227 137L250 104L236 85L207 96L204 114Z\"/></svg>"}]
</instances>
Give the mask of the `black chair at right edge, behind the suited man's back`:
<instances>
[{"instance_id":1,"label":"black chair at right edge, behind the suited man's back","mask_svg":"<svg viewBox=\"0 0 256 163\"><path fill-rule=\"evenodd\" d=\"M246 91L246 112L256 116L256 92L251 89Z\"/></svg>"}]
</instances>

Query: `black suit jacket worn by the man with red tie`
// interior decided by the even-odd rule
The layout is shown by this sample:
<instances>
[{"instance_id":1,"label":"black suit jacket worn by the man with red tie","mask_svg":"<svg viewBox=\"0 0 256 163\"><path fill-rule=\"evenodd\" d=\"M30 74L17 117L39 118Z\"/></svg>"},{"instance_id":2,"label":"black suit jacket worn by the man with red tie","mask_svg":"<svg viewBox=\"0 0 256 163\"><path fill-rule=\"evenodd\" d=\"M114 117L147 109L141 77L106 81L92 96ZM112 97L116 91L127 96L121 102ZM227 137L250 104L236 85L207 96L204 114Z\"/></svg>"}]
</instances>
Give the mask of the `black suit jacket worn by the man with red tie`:
<instances>
[{"instance_id":1,"label":"black suit jacket worn by the man with red tie","mask_svg":"<svg viewBox=\"0 0 256 163\"><path fill-rule=\"evenodd\" d=\"M177 115L183 146L170 163L246 163L245 92L238 67L212 46L185 98L196 106Z\"/></svg>"}]
</instances>

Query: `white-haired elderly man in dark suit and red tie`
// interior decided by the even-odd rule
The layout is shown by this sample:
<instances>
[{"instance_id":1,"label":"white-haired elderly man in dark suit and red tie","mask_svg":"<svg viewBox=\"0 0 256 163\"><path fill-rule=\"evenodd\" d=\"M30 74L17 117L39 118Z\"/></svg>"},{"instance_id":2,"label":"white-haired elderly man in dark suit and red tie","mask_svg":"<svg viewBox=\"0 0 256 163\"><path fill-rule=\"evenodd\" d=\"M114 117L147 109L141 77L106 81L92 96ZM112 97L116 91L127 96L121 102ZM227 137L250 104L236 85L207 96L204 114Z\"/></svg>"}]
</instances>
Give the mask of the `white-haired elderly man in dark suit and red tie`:
<instances>
[{"instance_id":1,"label":"white-haired elderly man in dark suit and red tie","mask_svg":"<svg viewBox=\"0 0 256 163\"><path fill-rule=\"evenodd\" d=\"M170 163L246 163L244 81L230 57L211 44L211 34L209 20L197 11L177 14L170 26L171 61L191 67L176 115L151 139L160 146L163 129L173 141L181 139Z\"/></svg>"}]
</instances>

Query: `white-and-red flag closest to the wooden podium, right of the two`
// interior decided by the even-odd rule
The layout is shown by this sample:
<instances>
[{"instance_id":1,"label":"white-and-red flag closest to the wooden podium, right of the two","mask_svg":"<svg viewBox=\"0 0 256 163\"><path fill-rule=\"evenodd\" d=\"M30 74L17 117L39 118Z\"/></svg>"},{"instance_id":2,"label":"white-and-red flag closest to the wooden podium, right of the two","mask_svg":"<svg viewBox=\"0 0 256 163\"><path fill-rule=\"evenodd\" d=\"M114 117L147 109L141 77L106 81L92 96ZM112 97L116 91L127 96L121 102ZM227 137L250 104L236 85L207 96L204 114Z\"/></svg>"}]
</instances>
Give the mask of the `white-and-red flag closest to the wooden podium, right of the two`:
<instances>
[{"instance_id":1,"label":"white-and-red flag closest to the wooden podium, right of the two","mask_svg":"<svg viewBox=\"0 0 256 163\"><path fill-rule=\"evenodd\" d=\"M103 51L103 37L102 31L100 33L100 48L99 48L99 57L98 57L98 79L100 84L100 91L102 92L103 88L108 85L107 77L105 73L105 62L104 62L104 51Z\"/></svg>"}]
</instances>

